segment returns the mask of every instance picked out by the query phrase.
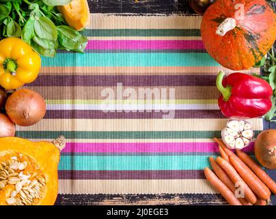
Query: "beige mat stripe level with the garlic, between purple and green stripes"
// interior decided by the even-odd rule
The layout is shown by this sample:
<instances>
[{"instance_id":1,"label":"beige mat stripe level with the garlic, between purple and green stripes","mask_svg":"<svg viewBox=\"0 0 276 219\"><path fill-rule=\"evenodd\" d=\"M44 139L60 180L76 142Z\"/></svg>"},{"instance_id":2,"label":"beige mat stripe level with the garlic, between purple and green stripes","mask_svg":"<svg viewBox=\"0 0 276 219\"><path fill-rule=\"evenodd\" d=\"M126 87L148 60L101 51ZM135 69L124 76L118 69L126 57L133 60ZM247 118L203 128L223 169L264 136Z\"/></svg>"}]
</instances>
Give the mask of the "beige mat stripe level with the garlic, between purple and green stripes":
<instances>
[{"instance_id":1,"label":"beige mat stripe level with the garlic, between purple and green stripes","mask_svg":"<svg viewBox=\"0 0 276 219\"><path fill-rule=\"evenodd\" d=\"M262 130L260 119L249 120ZM44 119L18 131L220 131L227 119Z\"/></svg>"}]
</instances>

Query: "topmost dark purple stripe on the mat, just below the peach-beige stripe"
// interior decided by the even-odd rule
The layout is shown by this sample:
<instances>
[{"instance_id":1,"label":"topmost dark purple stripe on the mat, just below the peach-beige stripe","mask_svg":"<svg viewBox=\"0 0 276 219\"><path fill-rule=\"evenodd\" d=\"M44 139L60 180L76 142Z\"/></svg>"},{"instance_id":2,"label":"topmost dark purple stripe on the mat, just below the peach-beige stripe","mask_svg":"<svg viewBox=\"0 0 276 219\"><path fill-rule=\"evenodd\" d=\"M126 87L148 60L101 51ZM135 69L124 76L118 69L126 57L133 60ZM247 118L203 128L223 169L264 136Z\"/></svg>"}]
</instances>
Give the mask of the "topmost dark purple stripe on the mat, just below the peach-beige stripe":
<instances>
[{"instance_id":1,"label":"topmost dark purple stripe on the mat, just below the peach-beige stripe","mask_svg":"<svg viewBox=\"0 0 276 219\"><path fill-rule=\"evenodd\" d=\"M27 86L215 86L215 75L40 75Z\"/></svg>"}]
</instances>

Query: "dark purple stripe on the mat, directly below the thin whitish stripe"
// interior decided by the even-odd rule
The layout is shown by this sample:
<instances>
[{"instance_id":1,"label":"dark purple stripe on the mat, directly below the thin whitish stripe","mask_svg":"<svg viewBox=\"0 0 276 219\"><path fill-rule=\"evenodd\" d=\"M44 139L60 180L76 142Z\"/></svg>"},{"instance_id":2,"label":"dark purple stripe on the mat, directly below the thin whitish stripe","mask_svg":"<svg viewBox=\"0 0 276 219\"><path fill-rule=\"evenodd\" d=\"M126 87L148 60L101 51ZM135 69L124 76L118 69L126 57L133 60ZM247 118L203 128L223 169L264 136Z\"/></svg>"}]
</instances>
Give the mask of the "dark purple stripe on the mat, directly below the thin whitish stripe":
<instances>
[{"instance_id":1,"label":"dark purple stripe on the mat, directly below the thin whitish stripe","mask_svg":"<svg viewBox=\"0 0 276 219\"><path fill-rule=\"evenodd\" d=\"M171 110L168 112L102 112L101 110L47 110L44 118L225 118L220 110ZM166 116L167 115L167 116Z\"/></svg>"}]
</instances>

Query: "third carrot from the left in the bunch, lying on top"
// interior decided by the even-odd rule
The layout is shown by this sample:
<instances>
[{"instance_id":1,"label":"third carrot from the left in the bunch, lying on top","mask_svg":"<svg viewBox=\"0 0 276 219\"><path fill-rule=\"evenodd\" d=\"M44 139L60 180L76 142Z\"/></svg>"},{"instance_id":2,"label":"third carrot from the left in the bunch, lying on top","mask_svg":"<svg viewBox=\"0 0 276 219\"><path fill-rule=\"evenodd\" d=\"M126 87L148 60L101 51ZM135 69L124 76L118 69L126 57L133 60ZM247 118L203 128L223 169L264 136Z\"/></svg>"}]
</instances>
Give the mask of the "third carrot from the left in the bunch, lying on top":
<instances>
[{"instance_id":1,"label":"third carrot from the left in the bunch, lying on top","mask_svg":"<svg viewBox=\"0 0 276 219\"><path fill-rule=\"evenodd\" d=\"M243 183L243 189L245 192L245 198L249 203L254 204L257 201L256 196L253 194L252 190L249 188L249 186L243 181L243 179L238 175L238 172L234 169L231 164L229 164L225 159L222 157L217 157L216 159L217 163L227 172L227 175L232 179L232 181L236 183Z\"/></svg>"}]
</instances>

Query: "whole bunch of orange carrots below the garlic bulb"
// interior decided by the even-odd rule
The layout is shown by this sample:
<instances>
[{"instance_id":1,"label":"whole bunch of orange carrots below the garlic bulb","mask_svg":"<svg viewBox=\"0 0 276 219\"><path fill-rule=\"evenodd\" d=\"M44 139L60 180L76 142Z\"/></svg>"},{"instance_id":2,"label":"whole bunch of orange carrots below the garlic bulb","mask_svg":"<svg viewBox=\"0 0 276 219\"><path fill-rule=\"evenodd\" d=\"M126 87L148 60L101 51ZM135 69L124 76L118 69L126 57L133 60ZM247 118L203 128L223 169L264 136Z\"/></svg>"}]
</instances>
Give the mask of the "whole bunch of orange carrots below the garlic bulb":
<instances>
[{"instance_id":1,"label":"whole bunch of orange carrots below the garlic bulb","mask_svg":"<svg viewBox=\"0 0 276 219\"><path fill-rule=\"evenodd\" d=\"M235 154L221 140L214 140L221 157L209 157L215 173L205 168L206 179L230 205L266 205L271 192L276 194L273 179L247 153L236 150Z\"/></svg>"}]
</instances>

